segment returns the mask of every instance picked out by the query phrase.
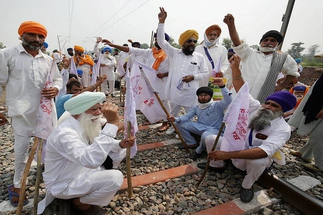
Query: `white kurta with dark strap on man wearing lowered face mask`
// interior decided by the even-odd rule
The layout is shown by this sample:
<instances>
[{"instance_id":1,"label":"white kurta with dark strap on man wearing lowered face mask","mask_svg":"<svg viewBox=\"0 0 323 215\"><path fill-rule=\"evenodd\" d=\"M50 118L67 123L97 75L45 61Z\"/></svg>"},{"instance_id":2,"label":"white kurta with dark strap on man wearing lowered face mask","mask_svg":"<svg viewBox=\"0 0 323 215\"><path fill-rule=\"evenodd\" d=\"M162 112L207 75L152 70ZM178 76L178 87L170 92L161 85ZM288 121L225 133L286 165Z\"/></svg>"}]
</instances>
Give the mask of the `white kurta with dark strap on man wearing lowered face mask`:
<instances>
[{"instance_id":1,"label":"white kurta with dark strap on man wearing lowered face mask","mask_svg":"<svg viewBox=\"0 0 323 215\"><path fill-rule=\"evenodd\" d=\"M209 72L209 76L207 78L199 81L200 87L207 86L209 78L212 77L212 74L213 74L212 64L206 56L204 47L206 47L206 45L201 44L201 45L196 46L196 48L195 48L195 51L201 53L204 56L205 61L206 61L206 65L207 65L207 69ZM228 69L228 66L229 66L228 56L227 56L227 48L224 47L223 45L215 44L211 48L207 48L207 51L208 51L211 59L213 60L214 67L216 67L218 62L220 61L220 66L219 66L220 71L225 73ZM215 68L215 69L217 69L217 68Z\"/></svg>"}]
</instances>

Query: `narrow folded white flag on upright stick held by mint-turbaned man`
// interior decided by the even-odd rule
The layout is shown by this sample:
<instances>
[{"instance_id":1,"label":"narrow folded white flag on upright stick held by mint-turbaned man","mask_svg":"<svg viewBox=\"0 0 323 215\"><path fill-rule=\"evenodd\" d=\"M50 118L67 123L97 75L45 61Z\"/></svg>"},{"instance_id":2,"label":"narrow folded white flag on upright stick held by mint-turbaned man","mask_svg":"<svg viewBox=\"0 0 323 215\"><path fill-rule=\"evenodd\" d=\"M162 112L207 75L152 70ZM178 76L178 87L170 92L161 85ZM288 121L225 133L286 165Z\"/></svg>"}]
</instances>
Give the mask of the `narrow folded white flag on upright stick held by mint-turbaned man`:
<instances>
[{"instance_id":1,"label":"narrow folded white flag on upright stick held by mint-turbaned man","mask_svg":"<svg viewBox=\"0 0 323 215\"><path fill-rule=\"evenodd\" d=\"M131 78L130 76L126 77L126 98L125 98L125 139L128 138L128 127L127 122L131 123L131 136L135 137L138 132L138 124L136 117L136 108L135 108L135 99L133 97L132 87L131 87ZM137 152L137 143L131 147L130 157L133 157Z\"/></svg>"}]
</instances>

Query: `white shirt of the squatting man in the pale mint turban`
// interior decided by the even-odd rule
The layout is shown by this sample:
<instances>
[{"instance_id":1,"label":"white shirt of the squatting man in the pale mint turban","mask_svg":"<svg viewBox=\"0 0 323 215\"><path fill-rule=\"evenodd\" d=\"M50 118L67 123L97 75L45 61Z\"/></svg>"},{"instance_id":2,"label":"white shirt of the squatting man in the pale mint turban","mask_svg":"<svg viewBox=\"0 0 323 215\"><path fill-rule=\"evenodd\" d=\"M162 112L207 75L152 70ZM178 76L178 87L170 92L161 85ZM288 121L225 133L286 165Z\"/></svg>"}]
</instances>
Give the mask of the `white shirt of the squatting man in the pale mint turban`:
<instances>
[{"instance_id":1,"label":"white shirt of the squatting man in the pale mint turban","mask_svg":"<svg viewBox=\"0 0 323 215\"><path fill-rule=\"evenodd\" d=\"M46 189L55 196L66 188L77 176L92 171L100 171L110 151L124 150L115 140L118 127L106 124L94 142L83 136L78 120L73 117L56 127L47 139L45 172Z\"/></svg>"}]
</instances>

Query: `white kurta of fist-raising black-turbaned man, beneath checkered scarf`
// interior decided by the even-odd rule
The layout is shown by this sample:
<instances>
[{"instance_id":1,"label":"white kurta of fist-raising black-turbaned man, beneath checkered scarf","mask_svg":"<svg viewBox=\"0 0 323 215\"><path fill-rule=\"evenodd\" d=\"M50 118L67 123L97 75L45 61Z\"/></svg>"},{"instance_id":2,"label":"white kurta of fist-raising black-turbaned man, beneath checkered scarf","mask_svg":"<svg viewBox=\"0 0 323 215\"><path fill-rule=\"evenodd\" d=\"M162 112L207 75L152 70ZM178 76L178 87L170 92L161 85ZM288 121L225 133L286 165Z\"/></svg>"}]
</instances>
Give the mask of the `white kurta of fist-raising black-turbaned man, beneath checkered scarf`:
<instances>
[{"instance_id":1,"label":"white kurta of fist-raising black-turbaned man, beneath checkered scarf","mask_svg":"<svg viewBox=\"0 0 323 215\"><path fill-rule=\"evenodd\" d=\"M241 57L241 74L244 81L248 82L249 92L252 97L257 98L270 71L273 55L266 56L263 52L249 47L245 41L232 48ZM286 76L299 76L297 64L290 55L287 56L281 72Z\"/></svg>"}]
</instances>

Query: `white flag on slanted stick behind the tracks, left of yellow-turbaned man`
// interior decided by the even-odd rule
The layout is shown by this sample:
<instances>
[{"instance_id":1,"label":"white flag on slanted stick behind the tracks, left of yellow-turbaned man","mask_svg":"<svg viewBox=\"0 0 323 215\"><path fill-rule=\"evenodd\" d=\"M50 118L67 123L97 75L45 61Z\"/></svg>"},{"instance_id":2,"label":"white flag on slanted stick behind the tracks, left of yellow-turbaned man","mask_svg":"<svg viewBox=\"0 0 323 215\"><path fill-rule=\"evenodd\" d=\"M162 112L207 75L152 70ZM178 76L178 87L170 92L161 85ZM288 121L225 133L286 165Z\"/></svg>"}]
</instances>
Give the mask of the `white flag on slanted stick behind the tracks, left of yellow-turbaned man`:
<instances>
[{"instance_id":1,"label":"white flag on slanted stick behind the tracks, left of yellow-turbaned man","mask_svg":"<svg viewBox=\"0 0 323 215\"><path fill-rule=\"evenodd\" d=\"M156 71L138 61L134 62L131 70L131 83L136 101L136 109L139 109L145 115L147 120L153 124L163 118L166 118L166 114L163 108L161 108L154 92L150 87L148 87L148 84L142 77L138 66L142 67L149 81L157 78Z\"/></svg>"}]
</instances>

